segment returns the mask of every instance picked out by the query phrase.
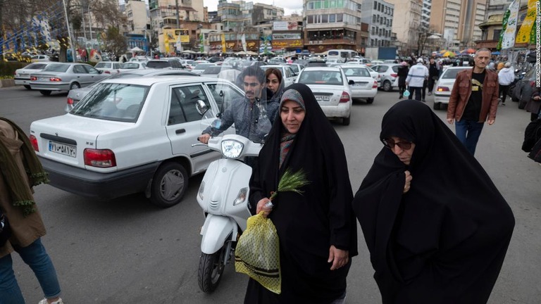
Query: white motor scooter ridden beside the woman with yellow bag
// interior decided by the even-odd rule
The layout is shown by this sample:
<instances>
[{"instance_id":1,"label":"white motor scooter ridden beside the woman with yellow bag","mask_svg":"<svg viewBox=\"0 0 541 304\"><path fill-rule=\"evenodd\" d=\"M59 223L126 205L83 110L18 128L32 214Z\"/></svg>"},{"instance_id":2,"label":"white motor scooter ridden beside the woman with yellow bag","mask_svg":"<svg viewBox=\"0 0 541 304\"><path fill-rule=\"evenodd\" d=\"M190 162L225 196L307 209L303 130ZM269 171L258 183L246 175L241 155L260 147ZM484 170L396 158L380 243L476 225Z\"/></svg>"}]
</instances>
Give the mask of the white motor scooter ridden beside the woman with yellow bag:
<instances>
[{"instance_id":1,"label":"white motor scooter ridden beside the woman with yellow bag","mask_svg":"<svg viewBox=\"0 0 541 304\"><path fill-rule=\"evenodd\" d=\"M197 203L206 217L201 228L197 279L201 291L211 293L218 286L225 265L235 255L237 240L251 215L248 210L251 167L242 160L259 156L263 144L227 134L211 137L206 145L223 156L209 165L197 191Z\"/></svg>"}]
</instances>

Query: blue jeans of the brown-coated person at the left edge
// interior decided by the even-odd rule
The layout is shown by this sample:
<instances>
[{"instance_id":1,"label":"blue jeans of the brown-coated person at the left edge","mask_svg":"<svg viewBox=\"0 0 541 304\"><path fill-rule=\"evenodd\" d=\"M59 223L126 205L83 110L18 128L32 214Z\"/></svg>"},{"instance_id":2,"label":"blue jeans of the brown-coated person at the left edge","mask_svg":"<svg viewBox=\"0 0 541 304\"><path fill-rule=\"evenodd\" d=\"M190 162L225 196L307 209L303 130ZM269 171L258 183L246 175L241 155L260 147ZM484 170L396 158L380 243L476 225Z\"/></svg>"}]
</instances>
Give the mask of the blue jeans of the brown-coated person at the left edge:
<instances>
[{"instance_id":1,"label":"blue jeans of the brown-coated person at the left edge","mask_svg":"<svg viewBox=\"0 0 541 304\"><path fill-rule=\"evenodd\" d=\"M60 296L60 284L51 258L46 253L41 239L27 247L13 246L20 258L32 268L46 298ZM17 279L13 272L11 254L0 258L0 304L25 304Z\"/></svg>"}]
</instances>

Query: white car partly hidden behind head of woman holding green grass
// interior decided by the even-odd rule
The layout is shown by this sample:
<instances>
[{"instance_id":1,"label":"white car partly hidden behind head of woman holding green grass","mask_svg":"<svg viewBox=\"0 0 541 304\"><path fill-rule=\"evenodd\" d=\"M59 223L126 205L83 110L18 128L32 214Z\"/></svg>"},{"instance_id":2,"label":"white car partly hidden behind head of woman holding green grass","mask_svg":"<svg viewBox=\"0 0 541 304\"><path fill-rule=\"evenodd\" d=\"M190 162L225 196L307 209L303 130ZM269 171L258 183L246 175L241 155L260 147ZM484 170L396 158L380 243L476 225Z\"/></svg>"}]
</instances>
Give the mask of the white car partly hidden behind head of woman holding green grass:
<instances>
[{"instance_id":1,"label":"white car partly hidden behind head of woman holding green grass","mask_svg":"<svg viewBox=\"0 0 541 304\"><path fill-rule=\"evenodd\" d=\"M342 68L307 67L301 70L296 82L312 90L325 116L342 119L343 125L349 125L352 91Z\"/></svg>"}]
</instances>

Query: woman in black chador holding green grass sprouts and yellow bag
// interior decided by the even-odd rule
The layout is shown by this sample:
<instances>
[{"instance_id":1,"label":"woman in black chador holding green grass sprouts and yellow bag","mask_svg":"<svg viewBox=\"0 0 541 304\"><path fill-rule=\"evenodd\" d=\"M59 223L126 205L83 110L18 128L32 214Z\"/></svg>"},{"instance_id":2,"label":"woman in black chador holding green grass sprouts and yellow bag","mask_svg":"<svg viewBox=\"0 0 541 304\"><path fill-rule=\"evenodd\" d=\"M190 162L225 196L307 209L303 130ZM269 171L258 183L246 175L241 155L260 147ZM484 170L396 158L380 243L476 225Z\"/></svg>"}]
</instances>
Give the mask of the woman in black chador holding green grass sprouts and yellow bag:
<instances>
[{"instance_id":1,"label":"woman in black chador holding green grass sprouts and yellow bag","mask_svg":"<svg viewBox=\"0 0 541 304\"><path fill-rule=\"evenodd\" d=\"M357 255L356 222L344 147L305 84L282 95L275 120L250 179L252 214L273 221L280 239L282 292L249 280L244 303L344 303L351 258ZM303 170L302 194L279 192L264 206L285 170Z\"/></svg>"}]
</instances>

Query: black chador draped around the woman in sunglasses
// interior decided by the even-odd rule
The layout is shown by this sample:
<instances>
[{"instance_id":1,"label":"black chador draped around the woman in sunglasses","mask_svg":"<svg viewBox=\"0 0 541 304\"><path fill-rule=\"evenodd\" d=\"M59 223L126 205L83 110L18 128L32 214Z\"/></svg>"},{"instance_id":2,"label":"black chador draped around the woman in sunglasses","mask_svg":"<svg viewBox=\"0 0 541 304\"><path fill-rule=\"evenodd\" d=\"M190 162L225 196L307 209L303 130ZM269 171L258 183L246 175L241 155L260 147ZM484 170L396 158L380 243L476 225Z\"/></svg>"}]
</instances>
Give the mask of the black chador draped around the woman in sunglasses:
<instances>
[{"instance_id":1,"label":"black chador draped around the woman in sunglasses","mask_svg":"<svg viewBox=\"0 0 541 304\"><path fill-rule=\"evenodd\" d=\"M514 228L483 167L428 106L401 101L380 138L416 144L409 166L382 148L353 208L383 303L486 303ZM404 171L411 188L404 190Z\"/></svg>"}]
</instances>

